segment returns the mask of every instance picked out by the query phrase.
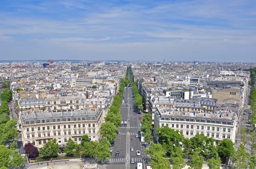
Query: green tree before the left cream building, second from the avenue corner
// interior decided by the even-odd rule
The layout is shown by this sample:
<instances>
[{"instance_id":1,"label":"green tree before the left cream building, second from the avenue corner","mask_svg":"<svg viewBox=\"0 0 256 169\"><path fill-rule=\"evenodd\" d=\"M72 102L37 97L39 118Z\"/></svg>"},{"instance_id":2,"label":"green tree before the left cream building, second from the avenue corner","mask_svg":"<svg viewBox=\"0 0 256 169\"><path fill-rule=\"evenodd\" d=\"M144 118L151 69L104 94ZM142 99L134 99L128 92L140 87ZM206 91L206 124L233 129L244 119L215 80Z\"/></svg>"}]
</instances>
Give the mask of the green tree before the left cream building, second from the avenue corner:
<instances>
[{"instance_id":1,"label":"green tree before the left cream building, second from the avenue corner","mask_svg":"<svg viewBox=\"0 0 256 169\"><path fill-rule=\"evenodd\" d=\"M81 146L82 155L92 158L97 155L98 141L85 142Z\"/></svg>"}]
</instances>

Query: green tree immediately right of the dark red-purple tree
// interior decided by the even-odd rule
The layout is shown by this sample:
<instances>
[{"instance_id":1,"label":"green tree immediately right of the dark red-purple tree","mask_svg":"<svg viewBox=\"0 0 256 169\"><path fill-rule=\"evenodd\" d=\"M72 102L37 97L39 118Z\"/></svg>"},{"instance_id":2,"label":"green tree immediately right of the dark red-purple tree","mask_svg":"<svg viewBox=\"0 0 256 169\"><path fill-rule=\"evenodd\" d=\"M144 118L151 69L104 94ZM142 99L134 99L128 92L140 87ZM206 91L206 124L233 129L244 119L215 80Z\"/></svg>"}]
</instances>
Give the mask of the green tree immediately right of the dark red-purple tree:
<instances>
[{"instance_id":1,"label":"green tree immediately right of the dark red-purple tree","mask_svg":"<svg viewBox=\"0 0 256 169\"><path fill-rule=\"evenodd\" d=\"M49 140L42 148L40 148L39 155L41 157L56 157L60 151L56 139L53 139Z\"/></svg>"}]
</instances>

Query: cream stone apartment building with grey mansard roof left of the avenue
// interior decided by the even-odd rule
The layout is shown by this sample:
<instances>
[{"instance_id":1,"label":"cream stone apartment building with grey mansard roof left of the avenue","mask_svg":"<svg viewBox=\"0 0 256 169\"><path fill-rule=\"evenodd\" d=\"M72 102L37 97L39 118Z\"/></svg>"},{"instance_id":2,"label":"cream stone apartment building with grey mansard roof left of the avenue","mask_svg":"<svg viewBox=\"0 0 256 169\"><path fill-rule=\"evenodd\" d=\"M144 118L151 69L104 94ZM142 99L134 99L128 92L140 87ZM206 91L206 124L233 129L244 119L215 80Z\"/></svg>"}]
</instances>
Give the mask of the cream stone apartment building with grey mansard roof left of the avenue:
<instances>
[{"instance_id":1,"label":"cream stone apartment building with grey mansard roof left of the avenue","mask_svg":"<svg viewBox=\"0 0 256 169\"><path fill-rule=\"evenodd\" d=\"M23 144L32 143L40 148L54 138L60 146L65 146L69 139L80 143L85 134L90 140L98 141L102 119L102 109L93 111L87 107L83 111L71 112L23 110L18 121Z\"/></svg>"}]
</instances>

